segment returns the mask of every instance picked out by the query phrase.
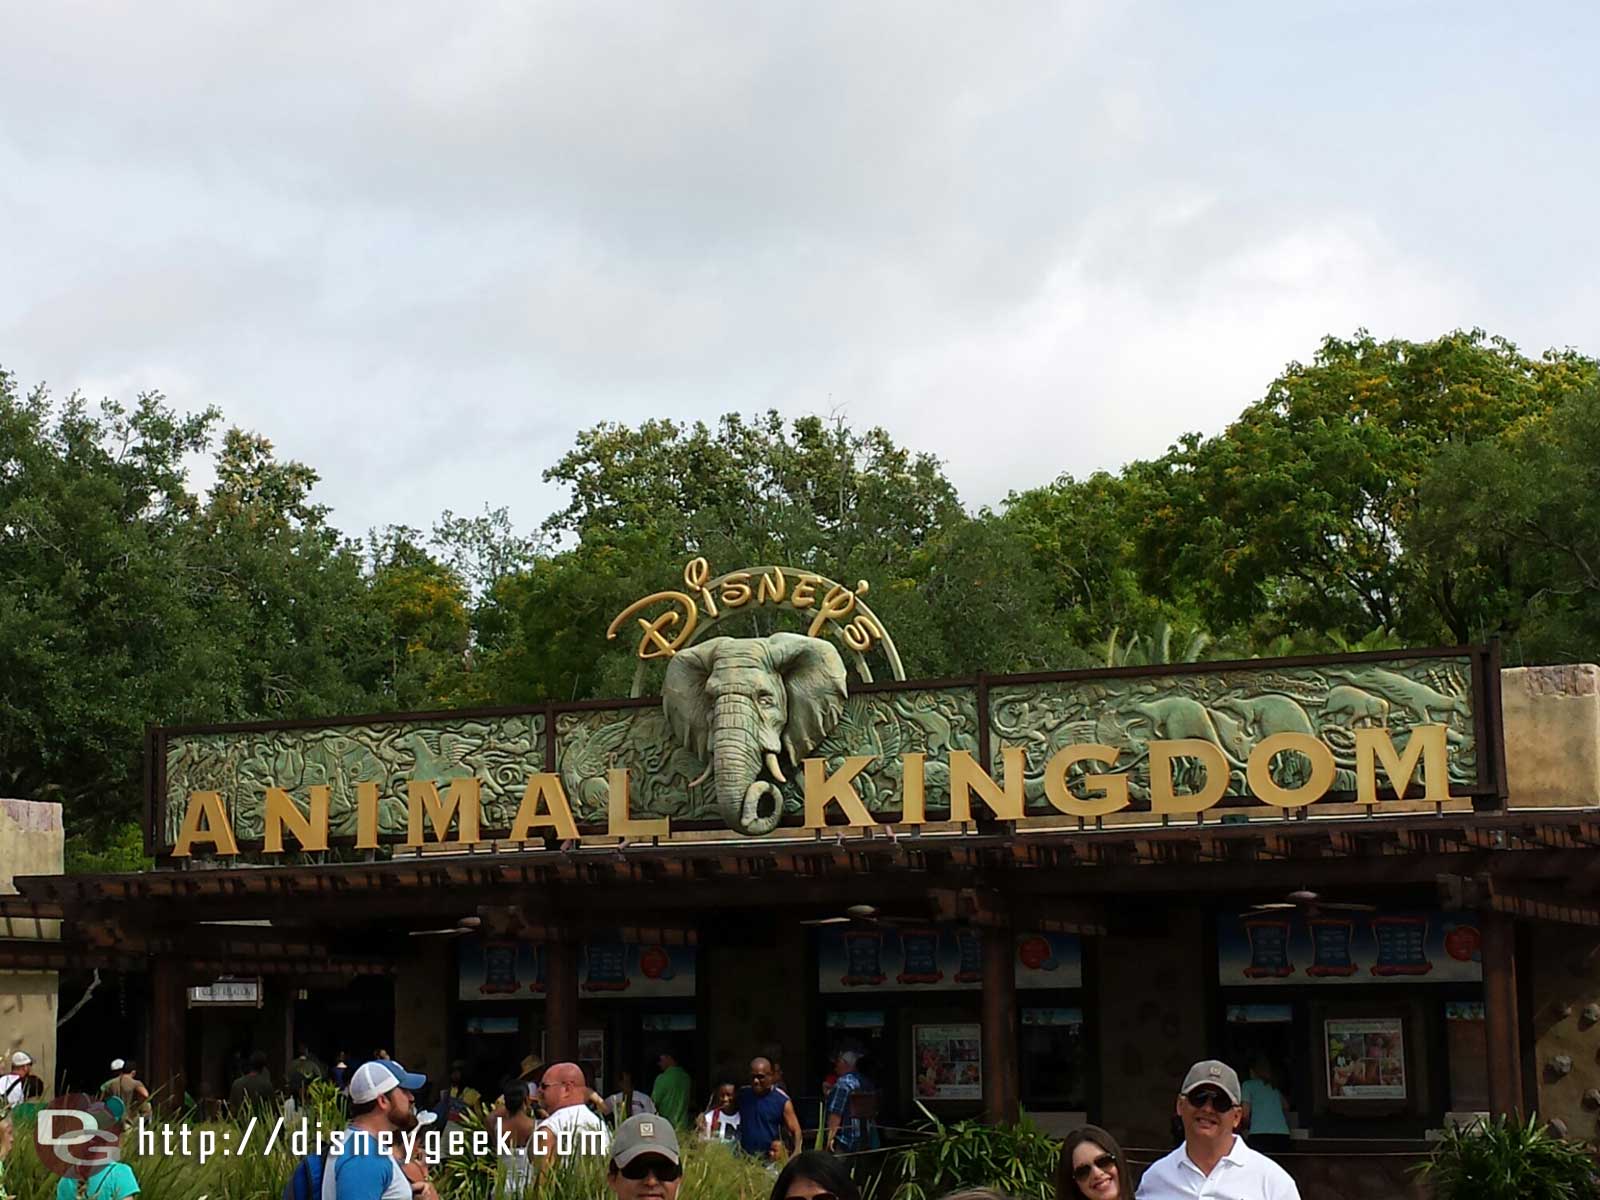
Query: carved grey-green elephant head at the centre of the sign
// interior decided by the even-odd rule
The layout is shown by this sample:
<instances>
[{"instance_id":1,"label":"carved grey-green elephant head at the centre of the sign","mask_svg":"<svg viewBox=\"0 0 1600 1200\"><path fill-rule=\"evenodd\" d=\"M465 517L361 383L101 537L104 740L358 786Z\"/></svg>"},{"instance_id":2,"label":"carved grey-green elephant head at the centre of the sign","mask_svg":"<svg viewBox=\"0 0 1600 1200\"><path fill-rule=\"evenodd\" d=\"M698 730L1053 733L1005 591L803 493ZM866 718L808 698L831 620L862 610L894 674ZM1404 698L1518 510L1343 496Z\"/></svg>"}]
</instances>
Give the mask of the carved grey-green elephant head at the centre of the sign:
<instances>
[{"instance_id":1,"label":"carved grey-green elephant head at the centre of the sign","mask_svg":"<svg viewBox=\"0 0 1600 1200\"><path fill-rule=\"evenodd\" d=\"M661 704L677 739L710 760L730 829L770 834L782 818L778 755L798 765L845 712L845 661L800 634L714 637L667 664Z\"/></svg>"}]
</instances>

